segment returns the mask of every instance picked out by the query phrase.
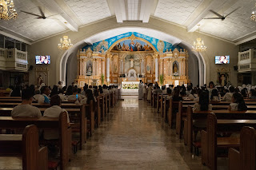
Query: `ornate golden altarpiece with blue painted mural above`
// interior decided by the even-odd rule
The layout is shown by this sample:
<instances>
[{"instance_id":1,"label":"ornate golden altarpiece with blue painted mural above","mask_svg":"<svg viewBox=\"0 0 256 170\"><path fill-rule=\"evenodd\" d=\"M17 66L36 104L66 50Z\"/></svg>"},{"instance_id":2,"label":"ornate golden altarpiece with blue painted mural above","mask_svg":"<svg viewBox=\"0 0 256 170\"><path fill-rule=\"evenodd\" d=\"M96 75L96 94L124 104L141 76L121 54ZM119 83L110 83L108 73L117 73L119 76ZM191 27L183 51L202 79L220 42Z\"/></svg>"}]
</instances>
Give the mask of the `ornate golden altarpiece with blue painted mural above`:
<instances>
[{"instance_id":1,"label":"ornate golden altarpiece with blue painted mural above","mask_svg":"<svg viewBox=\"0 0 256 170\"><path fill-rule=\"evenodd\" d=\"M157 81L158 85L188 84L188 57L186 49L130 32L80 49L75 83L80 87L85 83L118 85L122 89L134 89L140 80L147 84Z\"/></svg>"}]
</instances>

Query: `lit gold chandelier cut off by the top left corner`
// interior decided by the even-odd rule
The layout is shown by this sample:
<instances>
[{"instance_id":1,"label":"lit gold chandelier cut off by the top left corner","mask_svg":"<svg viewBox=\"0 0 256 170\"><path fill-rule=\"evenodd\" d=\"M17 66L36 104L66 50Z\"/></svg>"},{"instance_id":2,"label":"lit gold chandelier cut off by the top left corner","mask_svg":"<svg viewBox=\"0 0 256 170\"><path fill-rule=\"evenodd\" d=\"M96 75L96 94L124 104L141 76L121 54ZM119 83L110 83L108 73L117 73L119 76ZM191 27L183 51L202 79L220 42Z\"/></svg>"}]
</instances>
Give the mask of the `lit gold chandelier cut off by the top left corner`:
<instances>
[{"instance_id":1,"label":"lit gold chandelier cut off by the top left corner","mask_svg":"<svg viewBox=\"0 0 256 170\"><path fill-rule=\"evenodd\" d=\"M18 14L14 9L14 1L0 0L0 20L9 20L11 18L18 18Z\"/></svg>"}]
</instances>

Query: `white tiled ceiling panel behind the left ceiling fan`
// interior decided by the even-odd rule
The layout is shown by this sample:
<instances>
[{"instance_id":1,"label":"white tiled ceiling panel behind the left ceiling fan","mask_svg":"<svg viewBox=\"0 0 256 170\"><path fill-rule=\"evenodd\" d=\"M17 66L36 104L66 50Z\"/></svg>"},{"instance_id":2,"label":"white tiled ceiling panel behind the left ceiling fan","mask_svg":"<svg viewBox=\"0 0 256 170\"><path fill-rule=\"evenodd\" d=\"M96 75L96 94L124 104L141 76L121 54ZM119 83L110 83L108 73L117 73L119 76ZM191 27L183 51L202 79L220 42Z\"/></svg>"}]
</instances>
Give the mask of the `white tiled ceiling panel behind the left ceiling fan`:
<instances>
[{"instance_id":1,"label":"white tiled ceiling panel behind the left ceiling fan","mask_svg":"<svg viewBox=\"0 0 256 170\"><path fill-rule=\"evenodd\" d=\"M35 6L30 0L14 0L14 5L18 11L18 18L9 21L0 20L0 27L29 38L32 42L65 30L55 19L35 19L36 17L30 14L20 12L20 10L24 10L30 13L40 14L38 6ZM49 15L46 11L46 16Z\"/></svg>"}]
</instances>

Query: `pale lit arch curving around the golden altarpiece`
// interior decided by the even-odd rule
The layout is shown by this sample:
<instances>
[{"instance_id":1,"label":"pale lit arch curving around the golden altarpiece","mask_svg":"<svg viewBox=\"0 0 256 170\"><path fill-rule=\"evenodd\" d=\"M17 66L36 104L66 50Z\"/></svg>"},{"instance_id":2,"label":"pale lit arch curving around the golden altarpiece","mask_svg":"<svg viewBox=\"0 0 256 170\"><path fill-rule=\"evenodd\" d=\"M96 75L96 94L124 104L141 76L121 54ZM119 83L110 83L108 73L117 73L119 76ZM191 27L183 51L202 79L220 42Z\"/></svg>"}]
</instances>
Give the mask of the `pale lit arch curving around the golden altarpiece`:
<instances>
[{"instance_id":1,"label":"pale lit arch curving around the golden altarpiece","mask_svg":"<svg viewBox=\"0 0 256 170\"><path fill-rule=\"evenodd\" d=\"M111 38L116 34L120 34L120 33L127 32L127 31L133 31L133 32L136 31L140 34L148 34L149 36L158 35L159 39L163 39L164 41L168 41L168 42L172 43L173 45L179 45L182 48L187 49L189 56L190 56L189 57L190 65L188 65L190 81L194 85L203 85L204 83L206 83L206 70L205 70L204 58L202 57L201 53L195 53L194 51L192 51L190 43L184 42L184 41L182 41L178 38L175 38L169 34L164 34L158 30L151 30L151 29L145 29L145 28L126 28L126 27L113 29L113 30L107 30L102 33L94 34L94 36L91 36L90 38L86 38L82 42L79 42L76 45L74 45L73 49L67 50L66 53L64 53L64 55L62 56L61 62L59 63L59 67L60 67L59 79L66 81L66 83L71 82L70 79L72 79L73 77L66 76L66 74L67 74L66 70L67 70L67 68L69 68L69 66L66 66L66 63L68 62L69 63L68 65L73 65L73 68L74 68L76 60L73 59L73 60L69 61L68 58L72 57L72 56L74 57L75 56L74 53L76 53L78 51L78 49L81 49L82 46L85 46L87 44L91 45L94 42L99 42L106 38ZM154 33L154 34L152 34L152 33ZM156 34L156 33L158 33L158 34ZM106 36L106 35L108 35L108 36ZM122 41L120 40L119 42L122 42ZM118 44L118 42L116 42L115 45L116 44ZM114 48L114 45L110 46L109 49L113 49L113 48ZM71 53L73 53L73 55L71 55ZM74 63L72 64L71 62L74 62ZM148 63L147 60L146 60L146 63ZM142 69L146 69L145 70L146 72L149 72L149 70L150 70L150 72L154 71L154 63L150 63L149 65L148 64L146 65L146 68L142 68ZM77 68L74 68L72 70L76 70L76 69ZM66 79L66 77L67 77L67 79Z\"/></svg>"}]
</instances>

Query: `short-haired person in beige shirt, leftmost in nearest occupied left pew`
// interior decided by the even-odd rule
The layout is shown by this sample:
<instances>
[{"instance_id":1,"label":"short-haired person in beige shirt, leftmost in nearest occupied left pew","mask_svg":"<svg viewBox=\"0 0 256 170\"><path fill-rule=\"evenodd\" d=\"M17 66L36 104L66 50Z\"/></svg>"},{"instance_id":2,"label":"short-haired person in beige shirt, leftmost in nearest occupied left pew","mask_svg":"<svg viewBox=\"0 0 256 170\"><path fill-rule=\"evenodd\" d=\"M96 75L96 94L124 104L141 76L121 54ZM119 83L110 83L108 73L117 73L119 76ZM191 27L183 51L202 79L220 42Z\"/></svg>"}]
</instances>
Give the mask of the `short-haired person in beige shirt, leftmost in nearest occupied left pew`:
<instances>
[{"instance_id":1,"label":"short-haired person in beige shirt, leftmost in nearest occupied left pew","mask_svg":"<svg viewBox=\"0 0 256 170\"><path fill-rule=\"evenodd\" d=\"M12 117L42 117L40 110L31 105L33 92L30 89L22 90L22 104L17 105L11 112Z\"/></svg>"}]
</instances>

